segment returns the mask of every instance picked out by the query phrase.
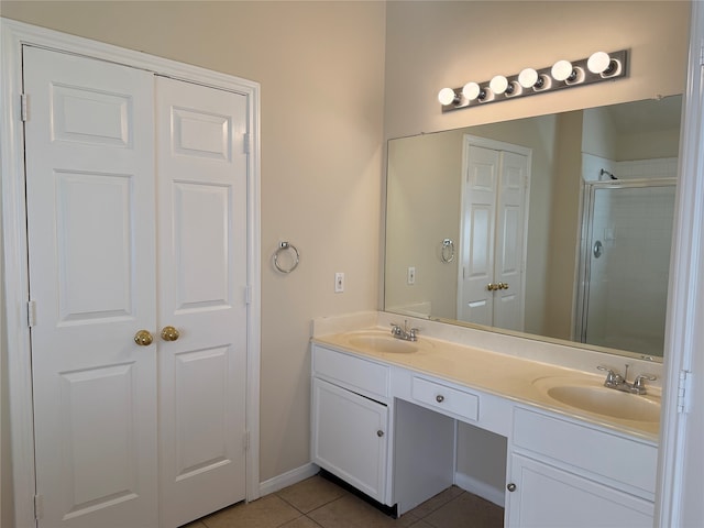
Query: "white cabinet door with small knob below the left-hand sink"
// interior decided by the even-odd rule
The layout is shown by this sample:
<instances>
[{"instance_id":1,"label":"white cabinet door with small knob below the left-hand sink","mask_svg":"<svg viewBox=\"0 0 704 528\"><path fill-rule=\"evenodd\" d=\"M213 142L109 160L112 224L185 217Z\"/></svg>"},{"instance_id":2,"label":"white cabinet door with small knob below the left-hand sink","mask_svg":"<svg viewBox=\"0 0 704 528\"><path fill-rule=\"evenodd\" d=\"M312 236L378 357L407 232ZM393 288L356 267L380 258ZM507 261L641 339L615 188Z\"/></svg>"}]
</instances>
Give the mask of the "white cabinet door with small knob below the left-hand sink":
<instances>
[{"instance_id":1,"label":"white cabinet door with small knob below the left-hand sink","mask_svg":"<svg viewBox=\"0 0 704 528\"><path fill-rule=\"evenodd\" d=\"M388 409L314 377L312 462L386 503Z\"/></svg>"}]
</instances>

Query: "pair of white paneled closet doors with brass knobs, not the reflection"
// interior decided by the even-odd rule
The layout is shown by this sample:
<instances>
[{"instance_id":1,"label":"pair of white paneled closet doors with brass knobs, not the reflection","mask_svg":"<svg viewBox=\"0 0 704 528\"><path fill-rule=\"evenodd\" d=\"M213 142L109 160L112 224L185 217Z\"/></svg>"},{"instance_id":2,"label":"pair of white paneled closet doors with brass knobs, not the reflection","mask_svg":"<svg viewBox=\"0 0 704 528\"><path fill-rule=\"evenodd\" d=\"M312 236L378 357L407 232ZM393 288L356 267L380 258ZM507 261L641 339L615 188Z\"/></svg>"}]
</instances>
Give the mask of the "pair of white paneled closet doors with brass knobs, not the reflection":
<instances>
[{"instance_id":1,"label":"pair of white paneled closet doors with brass knobs, not the reflection","mask_svg":"<svg viewBox=\"0 0 704 528\"><path fill-rule=\"evenodd\" d=\"M33 47L24 85L38 526L243 499L245 98Z\"/></svg>"}]
</instances>

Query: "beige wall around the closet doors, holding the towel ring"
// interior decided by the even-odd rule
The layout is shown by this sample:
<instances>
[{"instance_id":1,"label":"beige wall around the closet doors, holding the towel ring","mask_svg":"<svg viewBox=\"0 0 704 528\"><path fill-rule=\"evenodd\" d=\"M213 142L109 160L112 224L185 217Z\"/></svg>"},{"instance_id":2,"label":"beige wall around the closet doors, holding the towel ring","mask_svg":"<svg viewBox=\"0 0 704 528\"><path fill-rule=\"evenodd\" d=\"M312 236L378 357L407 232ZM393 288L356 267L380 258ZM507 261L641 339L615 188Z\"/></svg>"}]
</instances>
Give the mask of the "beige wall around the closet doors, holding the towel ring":
<instances>
[{"instance_id":1,"label":"beige wall around the closet doors, holding the towel ring","mask_svg":"<svg viewBox=\"0 0 704 528\"><path fill-rule=\"evenodd\" d=\"M261 479L308 463L310 320L377 306L384 3L3 1L1 9L261 82ZM286 276L271 263L283 240L300 251ZM343 294L333 293L334 272L345 273Z\"/></svg>"}]
</instances>

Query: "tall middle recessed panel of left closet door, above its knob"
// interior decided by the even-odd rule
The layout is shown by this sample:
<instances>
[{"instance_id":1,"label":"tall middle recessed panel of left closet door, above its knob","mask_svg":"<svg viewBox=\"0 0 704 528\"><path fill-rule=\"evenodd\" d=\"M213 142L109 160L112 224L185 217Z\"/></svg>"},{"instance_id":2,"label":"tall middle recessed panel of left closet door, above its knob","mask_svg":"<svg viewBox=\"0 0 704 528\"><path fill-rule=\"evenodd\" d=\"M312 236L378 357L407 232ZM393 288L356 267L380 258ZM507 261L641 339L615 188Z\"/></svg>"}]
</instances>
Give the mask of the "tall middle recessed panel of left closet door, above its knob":
<instances>
[{"instance_id":1,"label":"tall middle recessed panel of left closet door, above its knob","mask_svg":"<svg viewBox=\"0 0 704 528\"><path fill-rule=\"evenodd\" d=\"M133 314L133 175L56 170L59 323Z\"/></svg>"}]
</instances>

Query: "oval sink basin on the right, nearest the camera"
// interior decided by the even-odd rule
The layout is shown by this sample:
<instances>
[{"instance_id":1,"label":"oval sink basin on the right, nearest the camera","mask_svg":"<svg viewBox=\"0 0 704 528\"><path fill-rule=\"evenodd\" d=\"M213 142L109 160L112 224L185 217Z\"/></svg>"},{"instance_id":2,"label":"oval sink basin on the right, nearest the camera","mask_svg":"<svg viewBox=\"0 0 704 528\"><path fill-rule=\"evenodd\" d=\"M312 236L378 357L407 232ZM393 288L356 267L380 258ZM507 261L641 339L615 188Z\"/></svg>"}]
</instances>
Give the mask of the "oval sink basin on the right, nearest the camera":
<instances>
[{"instance_id":1,"label":"oval sink basin on the right, nearest the camera","mask_svg":"<svg viewBox=\"0 0 704 528\"><path fill-rule=\"evenodd\" d=\"M602 382L570 377L542 377L534 385L548 397L587 413L629 421L660 421L660 398L654 395L639 396L607 388Z\"/></svg>"}]
</instances>

